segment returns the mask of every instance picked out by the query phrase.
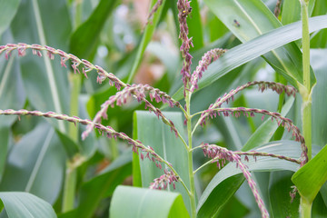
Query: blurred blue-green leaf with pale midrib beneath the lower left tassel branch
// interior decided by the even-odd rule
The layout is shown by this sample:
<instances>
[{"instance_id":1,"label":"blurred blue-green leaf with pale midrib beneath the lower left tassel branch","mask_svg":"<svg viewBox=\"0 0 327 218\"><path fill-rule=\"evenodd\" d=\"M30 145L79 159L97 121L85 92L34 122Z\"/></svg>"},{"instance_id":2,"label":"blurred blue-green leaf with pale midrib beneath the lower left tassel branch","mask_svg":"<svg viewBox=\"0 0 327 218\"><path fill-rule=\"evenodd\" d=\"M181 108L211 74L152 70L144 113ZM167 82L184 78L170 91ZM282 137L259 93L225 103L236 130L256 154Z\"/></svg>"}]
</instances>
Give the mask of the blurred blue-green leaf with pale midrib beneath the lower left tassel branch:
<instances>
[{"instance_id":1,"label":"blurred blue-green leaf with pale midrib beneath the lower left tassel branch","mask_svg":"<svg viewBox=\"0 0 327 218\"><path fill-rule=\"evenodd\" d=\"M40 118L41 119L41 118ZM39 124L13 146L0 190L33 193L54 203L64 180L64 150L49 124Z\"/></svg>"}]
</instances>

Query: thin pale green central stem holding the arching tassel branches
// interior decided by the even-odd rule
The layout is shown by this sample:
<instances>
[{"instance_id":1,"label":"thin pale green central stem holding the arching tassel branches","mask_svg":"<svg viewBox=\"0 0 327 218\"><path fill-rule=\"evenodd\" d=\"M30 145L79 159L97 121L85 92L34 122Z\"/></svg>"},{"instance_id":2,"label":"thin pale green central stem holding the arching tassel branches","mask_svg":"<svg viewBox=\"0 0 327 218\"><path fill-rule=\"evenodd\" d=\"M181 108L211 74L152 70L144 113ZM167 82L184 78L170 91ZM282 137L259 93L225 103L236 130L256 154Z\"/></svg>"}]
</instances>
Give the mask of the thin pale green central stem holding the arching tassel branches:
<instances>
[{"instance_id":1,"label":"thin pale green central stem holding the arching tassel branches","mask_svg":"<svg viewBox=\"0 0 327 218\"><path fill-rule=\"evenodd\" d=\"M186 102L186 114L187 114L187 136L188 136L188 167L189 167L189 176L190 176L190 201L191 201L191 217L196 217L196 203L195 203L195 185L194 185L194 174L193 174L193 150L192 150L192 119L191 115L191 93L186 90L185 96Z\"/></svg>"}]
</instances>

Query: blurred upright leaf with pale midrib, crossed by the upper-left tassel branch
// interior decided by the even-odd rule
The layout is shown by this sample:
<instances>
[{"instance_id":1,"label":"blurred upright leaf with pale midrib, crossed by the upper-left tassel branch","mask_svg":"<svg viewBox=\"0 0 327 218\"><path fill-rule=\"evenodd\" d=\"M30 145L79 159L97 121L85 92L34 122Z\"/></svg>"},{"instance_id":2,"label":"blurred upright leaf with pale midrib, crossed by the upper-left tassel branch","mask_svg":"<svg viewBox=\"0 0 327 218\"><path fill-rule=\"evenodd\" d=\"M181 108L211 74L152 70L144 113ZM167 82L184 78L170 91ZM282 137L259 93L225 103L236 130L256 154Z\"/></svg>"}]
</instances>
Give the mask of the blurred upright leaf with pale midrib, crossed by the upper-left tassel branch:
<instances>
[{"instance_id":1,"label":"blurred upright leaf with pale midrib, crossed by the upper-left tassel branch","mask_svg":"<svg viewBox=\"0 0 327 218\"><path fill-rule=\"evenodd\" d=\"M70 34L71 25L66 1L22 2L11 30L15 42L48 45L67 50L67 35ZM39 58L33 55L32 51L28 51L25 57L19 58L29 102L39 111L68 114L67 70L61 67L59 57L50 61L45 52L43 56ZM56 120L49 122L65 133L67 126L64 122Z\"/></svg>"}]
</instances>

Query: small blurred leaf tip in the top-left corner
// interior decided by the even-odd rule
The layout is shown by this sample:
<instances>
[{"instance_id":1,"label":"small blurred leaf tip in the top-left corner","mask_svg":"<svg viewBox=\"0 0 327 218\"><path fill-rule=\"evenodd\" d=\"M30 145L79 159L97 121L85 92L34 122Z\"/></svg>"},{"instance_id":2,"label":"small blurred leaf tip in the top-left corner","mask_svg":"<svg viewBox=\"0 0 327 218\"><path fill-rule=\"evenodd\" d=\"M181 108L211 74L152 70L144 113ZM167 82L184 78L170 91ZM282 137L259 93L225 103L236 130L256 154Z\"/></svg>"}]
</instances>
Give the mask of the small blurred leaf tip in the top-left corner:
<instances>
[{"instance_id":1,"label":"small blurred leaf tip in the top-left corner","mask_svg":"<svg viewBox=\"0 0 327 218\"><path fill-rule=\"evenodd\" d=\"M0 38L12 22L20 2L20 0L0 0Z\"/></svg>"}]
</instances>

